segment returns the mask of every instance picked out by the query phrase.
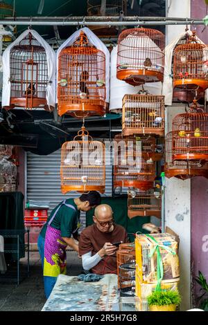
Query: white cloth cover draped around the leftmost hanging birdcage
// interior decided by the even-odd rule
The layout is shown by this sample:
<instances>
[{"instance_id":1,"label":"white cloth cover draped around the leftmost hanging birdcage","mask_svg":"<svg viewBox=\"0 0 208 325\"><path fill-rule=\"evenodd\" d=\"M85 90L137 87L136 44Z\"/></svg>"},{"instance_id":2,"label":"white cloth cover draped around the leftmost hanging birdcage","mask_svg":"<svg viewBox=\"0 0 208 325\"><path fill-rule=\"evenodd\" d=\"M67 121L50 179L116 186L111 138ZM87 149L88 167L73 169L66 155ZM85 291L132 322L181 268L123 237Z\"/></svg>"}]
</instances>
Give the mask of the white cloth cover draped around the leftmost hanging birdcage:
<instances>
[{"instance_id":1,"label":"white cloth cover draped around the leftmost hanging birdcage","mask_svg":"<svg viewBox=\"0 0 208 325\"><path fill-rule=\"evenodd\" d=\"M47 86L46 86L46 103L49 107L55 107L55 52L49 46L49 44L36 32L36 30L28 29L25 30L15 41L10 44L6 50L3 52L3 92L2 92L2 106L10 106L11 97L11 82L10 78L10 52L14 46L17 46L23 39L25 39L28 34L31 33L33 38L36 40L33 44L37 46L42 46L46 52L46 62L47 62ZM24 44L22 41L21 44ZM26 43L28 44L28 40ZM23 57L24 60L24 57ZM41 76L40 76L41 77Z\"/></svg>"}]
</instances>

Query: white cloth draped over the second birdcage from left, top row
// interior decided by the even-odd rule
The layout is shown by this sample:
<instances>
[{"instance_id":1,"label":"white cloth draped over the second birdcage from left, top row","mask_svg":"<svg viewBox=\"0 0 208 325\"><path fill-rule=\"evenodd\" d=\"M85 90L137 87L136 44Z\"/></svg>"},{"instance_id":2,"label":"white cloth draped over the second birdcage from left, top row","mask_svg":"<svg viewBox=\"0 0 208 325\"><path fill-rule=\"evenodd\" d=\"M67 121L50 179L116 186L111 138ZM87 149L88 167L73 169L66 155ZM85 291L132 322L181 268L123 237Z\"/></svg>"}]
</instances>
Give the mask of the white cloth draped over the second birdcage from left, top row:
<instances>
[{"instance_id":1,"label":"white cloth draped over the second birdcage from left, top row","mask_svg":"<svg viewBox=\"0 0 208 325\"><path fill-rule=\"evenodd\" d=\"M76 30L64 43L58 48L56 53L56 62L57 62L57 73L58 73L58 57L62 49L67 46L71 46L74 41L79 37L80 32L83 31L87 38L89 39L89 43L96 46L98 50L101 50L105 53L105 89L106 89L106 102L109 102L110 99L110 53L105 44L87 27L80 28ZM58 102L58 98L56 98L56 102Z\"/></svg>"}]
</instances>

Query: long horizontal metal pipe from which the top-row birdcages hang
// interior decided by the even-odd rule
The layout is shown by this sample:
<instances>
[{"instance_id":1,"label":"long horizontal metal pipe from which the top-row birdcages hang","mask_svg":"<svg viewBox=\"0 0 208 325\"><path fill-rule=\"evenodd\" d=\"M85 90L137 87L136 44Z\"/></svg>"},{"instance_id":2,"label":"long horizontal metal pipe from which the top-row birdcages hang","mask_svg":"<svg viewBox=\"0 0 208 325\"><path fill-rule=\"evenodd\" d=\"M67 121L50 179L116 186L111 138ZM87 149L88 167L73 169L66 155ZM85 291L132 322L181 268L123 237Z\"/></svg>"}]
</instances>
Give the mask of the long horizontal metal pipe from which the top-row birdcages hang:
<instances>
[{"instance_id":1,"label":"long horizontal metal pipe from which the top-row birdcages hang","mask_svg":"<svg viewBox=\"0 0 208 325\"><path fill-rule=\"evenodd\" d=\"M153 20L153 21L144 21L144 20L138 20L134 21L33 21L31 20L0 20L1 25L23 25L23 26L166 26L166 25L204 25L204 22L202 20L198 19L192 19L192 20Z\"/></svg>"}]
</instances>

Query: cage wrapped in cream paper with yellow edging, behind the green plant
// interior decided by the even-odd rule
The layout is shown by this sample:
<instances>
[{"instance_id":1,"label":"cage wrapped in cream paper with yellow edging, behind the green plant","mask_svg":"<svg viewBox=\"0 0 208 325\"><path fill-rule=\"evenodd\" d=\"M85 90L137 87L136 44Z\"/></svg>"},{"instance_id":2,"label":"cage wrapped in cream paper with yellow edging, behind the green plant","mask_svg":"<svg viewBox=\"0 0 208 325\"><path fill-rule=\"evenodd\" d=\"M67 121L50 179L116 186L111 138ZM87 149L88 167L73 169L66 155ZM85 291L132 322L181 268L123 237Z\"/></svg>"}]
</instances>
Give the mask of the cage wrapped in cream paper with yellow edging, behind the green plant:
<instances>
[{"instance_id":1,"label":"cage wrapped in cream paper with yellow edging, behind the green plant","mask_svg":"<svg viewBox=\"0 0 208 325\"><path fill-rule=\"evenodd\" d=\"M153 293L158 284L158 252L161 254L163 278L161 290L177 290L180 281L178 259L178 242L176 237L168 233L136 234L136 296L146 302L148 295Z\"/></svg>"}]
</instances>

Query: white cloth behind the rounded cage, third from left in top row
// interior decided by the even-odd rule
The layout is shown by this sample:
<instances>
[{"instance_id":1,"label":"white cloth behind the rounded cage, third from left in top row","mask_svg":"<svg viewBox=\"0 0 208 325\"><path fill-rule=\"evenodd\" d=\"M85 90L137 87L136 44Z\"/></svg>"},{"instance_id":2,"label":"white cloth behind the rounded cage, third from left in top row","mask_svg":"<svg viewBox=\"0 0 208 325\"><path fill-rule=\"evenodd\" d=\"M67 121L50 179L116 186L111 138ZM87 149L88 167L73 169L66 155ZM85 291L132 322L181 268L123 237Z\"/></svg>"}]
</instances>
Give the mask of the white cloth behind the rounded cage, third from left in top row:
<instances>
[{"instance_id":1,"label":"white cloth behind the rounded cage, third from left in top row","mask_svg":"<svg viewBox=\"0 0 208 325\"><path fill-rule=\"evenodd\" d=\"M122 99L125 94L136 94L141 91L142 86L132 86L116 77L116 60L118 46L116 45L110 55L110 107L109 110L119 113L122 110ZM162 82L147 82L144 86L148 93L162 95Z\"/></svg>"}]
</instances>

